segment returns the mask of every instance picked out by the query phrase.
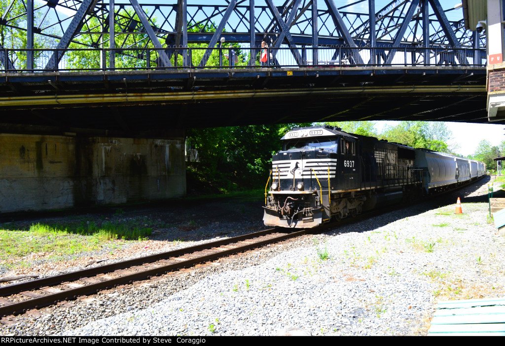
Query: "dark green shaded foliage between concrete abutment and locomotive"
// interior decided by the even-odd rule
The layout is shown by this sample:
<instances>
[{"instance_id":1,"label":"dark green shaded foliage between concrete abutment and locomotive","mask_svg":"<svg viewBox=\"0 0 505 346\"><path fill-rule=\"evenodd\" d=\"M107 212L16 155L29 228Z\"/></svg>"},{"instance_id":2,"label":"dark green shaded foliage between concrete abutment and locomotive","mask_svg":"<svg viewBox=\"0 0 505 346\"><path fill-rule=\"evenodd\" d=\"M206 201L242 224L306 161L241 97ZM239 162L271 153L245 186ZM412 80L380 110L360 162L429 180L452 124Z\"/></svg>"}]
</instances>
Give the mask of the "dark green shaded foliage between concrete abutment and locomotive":
<instances>
[{"instance_id":1,"label":"dark green shaded foliage between concrete abutment and locomotive","mask_svg":"<svg viewBox=\"0 0 505 346\"><path fill-rule=\"evenodd\" d=\"M188 129L187 143L199 162L187 165L189 192L229 192L262 187L271 169L279 138L291 128L309 124L275 124Z\"/></svg>"}]
</instances>

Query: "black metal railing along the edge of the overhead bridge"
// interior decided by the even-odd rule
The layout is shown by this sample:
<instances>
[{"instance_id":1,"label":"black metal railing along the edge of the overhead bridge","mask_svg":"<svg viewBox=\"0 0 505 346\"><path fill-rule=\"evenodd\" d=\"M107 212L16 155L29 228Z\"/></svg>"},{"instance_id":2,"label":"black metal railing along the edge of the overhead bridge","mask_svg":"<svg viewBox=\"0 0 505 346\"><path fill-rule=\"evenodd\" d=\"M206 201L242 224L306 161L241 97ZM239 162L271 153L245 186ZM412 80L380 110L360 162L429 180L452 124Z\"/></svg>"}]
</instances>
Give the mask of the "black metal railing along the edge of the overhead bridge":
<instances>
[{"instance_id":1,"label":"black metal railing along the edge of the overhead bridge","mask_svg":"<svg viewBox=\"0 0 505 346\"><path fill-rule=\"evenodd\" d=\"M233 51L232 51L233 50ZM168 70L188 68L299 68L381 66L486 66L485 49L423 47L299 46L260 47L167 47L167 48L5 48L12 66L0 73ZM233 59L235 53L236 59ZM265 54L266 53L266 54ZM27 63L33 57L33 68ZM58 57L60 58L58 60ZM231 57L231 58L230 58ZM55 64L55 61L58 61ZM6 64L7 65L7 64Z\"/></svg>"}]
</instances>

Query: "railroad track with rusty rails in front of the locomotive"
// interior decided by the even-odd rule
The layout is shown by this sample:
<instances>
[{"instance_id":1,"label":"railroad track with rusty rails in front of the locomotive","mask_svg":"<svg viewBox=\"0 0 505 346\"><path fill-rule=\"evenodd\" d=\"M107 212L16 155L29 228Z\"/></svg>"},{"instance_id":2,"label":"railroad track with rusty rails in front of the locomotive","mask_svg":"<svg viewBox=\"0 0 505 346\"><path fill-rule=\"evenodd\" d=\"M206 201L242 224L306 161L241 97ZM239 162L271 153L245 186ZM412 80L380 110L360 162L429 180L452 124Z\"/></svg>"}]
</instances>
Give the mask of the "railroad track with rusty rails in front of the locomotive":
<instances>
[{"instance_id":1,"label":"railroad track with rusty rails in front of the locomotive","mask_svg":"<svg viewBox=\"0 0 505 346\"><path fill-rule=\"evenodd\" d=\"M271 228L184 249L0 287L0 316L18 315L30 309L77 299L99 290L189 268L198 263L214 261L314 230L302 229L292 232L283 228Z\"/></svg>"}]
</instances>

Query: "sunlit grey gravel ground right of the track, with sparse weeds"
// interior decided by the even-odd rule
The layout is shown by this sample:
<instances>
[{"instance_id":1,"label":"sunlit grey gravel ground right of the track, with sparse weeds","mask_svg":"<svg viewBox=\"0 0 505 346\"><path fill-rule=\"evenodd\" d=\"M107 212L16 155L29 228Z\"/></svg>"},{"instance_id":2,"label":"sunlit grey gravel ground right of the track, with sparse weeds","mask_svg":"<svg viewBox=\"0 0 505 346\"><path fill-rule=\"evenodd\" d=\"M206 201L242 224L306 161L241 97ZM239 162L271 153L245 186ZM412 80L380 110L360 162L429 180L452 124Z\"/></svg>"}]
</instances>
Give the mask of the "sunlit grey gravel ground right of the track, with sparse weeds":
<instances>
[{"instance_id":1,"label":"sunlit grey gravel ground right of the track, with sparse weeds","mask_svg":"<svg viewBox=\"0 0 505 346\"><path fill-rule=\"evenodd\" d=\"M462 215L454 214L458 196ZM0 333L425 335L437 301L505 294L505 237L487 216L480 181L323 234L42 309L0 325Z\"/></svg>"}]
</instances>

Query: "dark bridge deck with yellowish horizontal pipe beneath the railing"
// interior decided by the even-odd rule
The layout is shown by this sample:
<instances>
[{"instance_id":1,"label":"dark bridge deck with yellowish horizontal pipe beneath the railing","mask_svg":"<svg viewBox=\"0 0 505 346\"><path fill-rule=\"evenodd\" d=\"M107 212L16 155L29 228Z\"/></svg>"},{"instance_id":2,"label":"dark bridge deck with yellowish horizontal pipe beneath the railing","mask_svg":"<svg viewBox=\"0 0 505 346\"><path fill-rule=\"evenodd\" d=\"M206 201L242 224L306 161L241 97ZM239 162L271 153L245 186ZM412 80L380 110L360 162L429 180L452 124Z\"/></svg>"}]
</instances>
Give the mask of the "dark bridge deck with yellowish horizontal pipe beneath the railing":
<instances>
[{"instance_id":1,"label":"dark bridge deck with yellowish horizontal pipe beneath the railing","mask_svg":"<svg viewBox=\"0 0 505 346\"><path fill-rule=\"evenodd\" d=\"M0 126L135 135L272 122L487 122L485 83L485 68L472 66L4 73Z\"/></svg>"}]
</instances>

